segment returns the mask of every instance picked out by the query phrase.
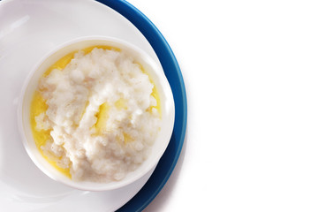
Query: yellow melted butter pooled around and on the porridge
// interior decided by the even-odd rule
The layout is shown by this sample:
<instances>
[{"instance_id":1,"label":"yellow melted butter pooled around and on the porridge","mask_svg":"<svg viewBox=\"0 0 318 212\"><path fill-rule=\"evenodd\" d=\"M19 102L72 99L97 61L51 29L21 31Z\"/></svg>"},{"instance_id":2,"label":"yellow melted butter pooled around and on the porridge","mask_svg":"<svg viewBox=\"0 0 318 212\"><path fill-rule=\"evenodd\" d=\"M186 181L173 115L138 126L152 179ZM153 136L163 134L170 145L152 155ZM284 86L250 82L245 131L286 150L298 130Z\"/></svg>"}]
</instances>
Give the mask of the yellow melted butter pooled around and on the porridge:
<instances>
[{"instance_id":1,"label":"yellow melted butter pooled around and on the porridge","mask_svg":"<svg viewBox=\"0 0 318 212\"><path fill-rule=\"evenodd\" d=\"M110 47L110 46L103 46L103 45L97 45L97 46L92 46L92 47L88 47L86 49L82 49L82 51L84 51L85 54L88 54L89 52L91 52L93 49L98 48L98 49L112 49L112 50L116 50L116 51L121 51L121 49L118 48L114 48L114 47ZM52 64L49 69L43 73L42 77L47 77L49 75L50 72L52 72L52 70L57 69L57 70L63 70L67 64L69 64L72 61L72 58L74 58L74 55L77 53L78 51L73 51L67 55L65 55L64 57L60 58L59 60L57 60L57 62L55 64ZM154 81L151 79L151 77L149 76L148 72L145 72L144 68L142 67L141 64L140 65L140 69L143 73L147 74L149 77L150 82L154 85L153 91L151 93L151 95L155 98L157 105L156 106L151 106L148 108L148 112L151 112L151 110L153 108L155 108L160 116L162 114L161 112L161 107L160 107L160 98L159 98L159 93L155 87L155 83ZM81 116L84 115L85 110L87 108L89 102L87 102L85 109L83 111L83 113L81 114ZM119 99L117 102L115 102L115 106L117 107L117 109L127 109L126 106L126 102L124 99ZM42 146L44 146L46 144L46 142L48 140L52 140L51 136L50 136L50 130L48 131L37 131L36 130L36 122L35 122L35 117L39 116L42 112L45 112L46 110L48 110L48 105L46 104L45 100L42 98L42 95L39 91L35 91L34 92L34 97L33 100L31 102L31 111L30 111L30 121L31 121L31 128L32 128L32 133L34 136L34 140L35 140L35 145L36 147L39 149L40 153L42 154L42 156L58 171L60 171L61 173L63 173L65 176L67 176L68 178L72 178L72 175L70 173L70 169L64 169L61 168L57 165L57 161L60 160L61 158L57 158L54 155L44 155L43 151L42 151ZM95 114L95 117L97 118L97 121L95 123L95 129L97 133L102 133L102 132L106 132L106 121L109 117L108 113L110 110L110 106L105 102L103 103L100 108L99 111ZM128 134L124 133L124 140L125 140L125 144L129 141L132 141L133 139L131 138L131 136L129 136Z\"/></svg>"}]
</instances>

